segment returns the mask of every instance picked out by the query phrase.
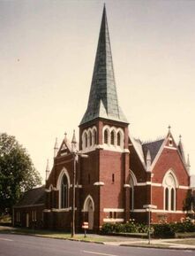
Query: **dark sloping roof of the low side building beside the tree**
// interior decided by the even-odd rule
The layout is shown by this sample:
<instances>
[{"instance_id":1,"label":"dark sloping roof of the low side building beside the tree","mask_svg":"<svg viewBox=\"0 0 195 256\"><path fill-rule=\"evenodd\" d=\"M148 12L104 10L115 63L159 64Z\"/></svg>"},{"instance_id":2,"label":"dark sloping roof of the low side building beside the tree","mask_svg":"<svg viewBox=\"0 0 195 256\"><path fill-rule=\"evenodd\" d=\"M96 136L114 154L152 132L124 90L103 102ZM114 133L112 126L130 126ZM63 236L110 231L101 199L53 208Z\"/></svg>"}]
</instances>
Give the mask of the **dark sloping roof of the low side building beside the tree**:
<instances>
[{"instance_id":1,"label":"dark sloping roof of the low side building beside the tree","mask_svg":"<svg viewBox=\"0 0 195 256\"><path fill-rule=\"evenodd\" d=\"M45 204L45 186L28 190L14 207Z\"/></svg>"}]
</instances>

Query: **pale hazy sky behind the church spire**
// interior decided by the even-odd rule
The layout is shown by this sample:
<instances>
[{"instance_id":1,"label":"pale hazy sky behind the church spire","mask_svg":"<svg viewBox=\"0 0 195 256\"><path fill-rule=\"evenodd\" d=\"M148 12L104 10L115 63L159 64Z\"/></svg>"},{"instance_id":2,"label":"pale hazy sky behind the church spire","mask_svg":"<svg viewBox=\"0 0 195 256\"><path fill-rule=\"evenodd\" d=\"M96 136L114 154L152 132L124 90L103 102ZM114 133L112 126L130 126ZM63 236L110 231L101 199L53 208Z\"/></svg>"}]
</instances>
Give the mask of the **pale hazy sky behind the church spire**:
<instances>
[{"instance_id":1,"label":"pale hazy sky behind the church spire","mask_svg":"<svg viewBox=\"0 0 195 256\"><path fill-rule=\"evenodd\" d=\"M0 0L0 133L45 179L86 105L106 4L119 103L143 141L182 136L195 175L195 1Z\"/></svg>"}]
</instances>

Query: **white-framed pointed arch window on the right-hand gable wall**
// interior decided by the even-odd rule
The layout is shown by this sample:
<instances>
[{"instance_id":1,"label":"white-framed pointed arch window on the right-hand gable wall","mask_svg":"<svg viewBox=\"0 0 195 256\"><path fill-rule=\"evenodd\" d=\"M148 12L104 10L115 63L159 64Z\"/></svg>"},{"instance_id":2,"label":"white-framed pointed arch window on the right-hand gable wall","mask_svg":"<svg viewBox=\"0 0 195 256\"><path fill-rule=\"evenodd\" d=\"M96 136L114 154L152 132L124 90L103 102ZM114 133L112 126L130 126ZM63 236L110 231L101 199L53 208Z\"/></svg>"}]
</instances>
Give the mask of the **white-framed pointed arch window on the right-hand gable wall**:
<instances>
[{"instance_id":1,"label":"white-framed pointed arch window on the right-hand gable wall","mask_svg":"<svg viewBox=\"0 0 195 256\"><path fill-rule=\"evenodd\" d=\"M162 185L164 187L164 209L166 211L176 211L176 188L178 188L178 182L174 172L170 170L166 173Z\"/></svg>"}]
</instances>

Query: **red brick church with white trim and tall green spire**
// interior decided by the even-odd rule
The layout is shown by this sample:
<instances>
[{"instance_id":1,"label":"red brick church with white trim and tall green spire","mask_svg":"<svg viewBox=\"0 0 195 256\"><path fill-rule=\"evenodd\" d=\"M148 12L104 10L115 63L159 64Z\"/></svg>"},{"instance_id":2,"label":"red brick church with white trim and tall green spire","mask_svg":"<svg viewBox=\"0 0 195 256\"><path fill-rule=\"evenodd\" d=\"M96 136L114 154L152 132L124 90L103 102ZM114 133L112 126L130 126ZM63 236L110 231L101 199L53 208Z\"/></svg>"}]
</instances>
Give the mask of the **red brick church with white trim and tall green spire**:
<instances>
[{"instance_id":1,"label":"red brick church with white trim and tall green spire","mask_svg":"<svg viewBox=\"0 0 195 256\"><path fill-rule=\"evenodd\" d=\"M27 191L13 209L14 225L76 229L88 221L99 230L107 222L130 218L146 222L179 221L186 216L190 163L181 137L170 132L144 143L131 136L118 105L116 81L104 7L94 74L86 112L73 135L54 148L54 165L46 169L45 186ZM75 206L75 207L73 207ZM72 214L73 212L73 214Z\"/></svg>"}]
</instances>

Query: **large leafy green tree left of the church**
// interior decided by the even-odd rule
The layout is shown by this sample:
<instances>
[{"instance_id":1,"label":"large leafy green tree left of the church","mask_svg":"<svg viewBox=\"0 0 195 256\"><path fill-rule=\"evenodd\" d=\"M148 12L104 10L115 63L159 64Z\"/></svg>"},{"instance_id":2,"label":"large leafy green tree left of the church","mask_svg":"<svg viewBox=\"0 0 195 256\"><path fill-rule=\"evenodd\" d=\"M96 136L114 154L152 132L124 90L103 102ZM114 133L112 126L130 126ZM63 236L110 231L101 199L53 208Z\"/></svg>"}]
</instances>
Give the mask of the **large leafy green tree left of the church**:
<instances>
[{"instance_id":1,"label":"large leafy green tree left of the church","mask_svg":"<svg viewBox=\"0 0 195 256\"><path fill-rule=\"evenodd\" d=\"M23 192L41 185L26 149L14 136L0 134L0 213L11 213Z\"/></svg>"}]
</instances>

